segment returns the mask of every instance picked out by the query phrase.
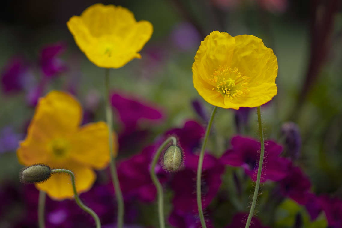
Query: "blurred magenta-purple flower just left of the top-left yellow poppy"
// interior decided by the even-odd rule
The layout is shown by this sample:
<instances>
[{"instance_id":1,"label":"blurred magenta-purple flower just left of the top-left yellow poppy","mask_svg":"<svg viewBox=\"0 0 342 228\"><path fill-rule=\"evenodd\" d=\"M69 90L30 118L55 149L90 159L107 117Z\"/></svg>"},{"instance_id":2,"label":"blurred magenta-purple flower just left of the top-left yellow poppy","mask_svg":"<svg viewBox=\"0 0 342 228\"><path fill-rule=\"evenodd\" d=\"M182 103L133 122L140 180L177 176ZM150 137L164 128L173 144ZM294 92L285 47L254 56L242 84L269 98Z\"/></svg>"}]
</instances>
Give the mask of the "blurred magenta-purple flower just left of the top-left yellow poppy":
<instances>
[{"instance_id":1,"label":"blurred magenta-purple flower just left of the top-left yellow poppy","mask_svg":"<svg viewBox=\"0 0 342 228\"><path fill-rule=\"evenodd\" d=\"M67 69L65 62L58 58L66 50L66 45L62 42L45 46L40 51L39 64L46 77L56 76Z\"/></svg>"}]
</instances>

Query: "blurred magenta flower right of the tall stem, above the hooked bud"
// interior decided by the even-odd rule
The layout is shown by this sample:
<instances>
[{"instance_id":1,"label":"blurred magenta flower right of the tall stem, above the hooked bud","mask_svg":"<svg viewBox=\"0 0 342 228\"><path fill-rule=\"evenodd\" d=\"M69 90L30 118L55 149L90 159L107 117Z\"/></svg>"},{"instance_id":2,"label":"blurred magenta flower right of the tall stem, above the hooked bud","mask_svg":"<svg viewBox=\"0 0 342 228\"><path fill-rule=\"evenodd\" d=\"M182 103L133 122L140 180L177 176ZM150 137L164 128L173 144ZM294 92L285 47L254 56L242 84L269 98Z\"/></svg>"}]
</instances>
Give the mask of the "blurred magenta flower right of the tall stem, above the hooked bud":
<instances>
[{"instance_id":1,"label":"blurred magenta flower right of the tall stem, above the hooked bud","mask_svg":"<svg viewBox=\"0 0 342 228\"><path fill-rule=\"evenodd\" d=\"M117 109L126 132L136 130L138 121L142 119L160 120L162 118L161 111L158 111L159 108L136 98L115 93L111 96L111 103Z\"/></svg>"}]
</instances>

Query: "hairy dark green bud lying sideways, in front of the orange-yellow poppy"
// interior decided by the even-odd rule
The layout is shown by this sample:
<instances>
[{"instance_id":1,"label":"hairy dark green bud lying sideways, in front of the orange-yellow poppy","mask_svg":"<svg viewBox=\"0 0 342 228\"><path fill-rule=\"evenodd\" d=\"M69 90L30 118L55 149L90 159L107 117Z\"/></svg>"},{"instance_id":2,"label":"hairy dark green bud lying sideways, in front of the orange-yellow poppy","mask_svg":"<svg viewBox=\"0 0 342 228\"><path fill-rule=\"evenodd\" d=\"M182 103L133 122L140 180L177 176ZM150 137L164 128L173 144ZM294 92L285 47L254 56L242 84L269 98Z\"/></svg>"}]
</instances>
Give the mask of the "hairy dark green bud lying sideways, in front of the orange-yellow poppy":
<instances>
[{"instance_id":1,"label":"hairy dark green bud lying sideways, in front of the orange-yellow poppy","mask_svg":"<svg viewBox=\"0 0 342 228\"><path fill-rule=\"evenodd\" d=\"M19 173L20 181L23 183L42 183L51 177L51 167L45 164L34 164L26 166Z\"/></svg>"}]
</instances>

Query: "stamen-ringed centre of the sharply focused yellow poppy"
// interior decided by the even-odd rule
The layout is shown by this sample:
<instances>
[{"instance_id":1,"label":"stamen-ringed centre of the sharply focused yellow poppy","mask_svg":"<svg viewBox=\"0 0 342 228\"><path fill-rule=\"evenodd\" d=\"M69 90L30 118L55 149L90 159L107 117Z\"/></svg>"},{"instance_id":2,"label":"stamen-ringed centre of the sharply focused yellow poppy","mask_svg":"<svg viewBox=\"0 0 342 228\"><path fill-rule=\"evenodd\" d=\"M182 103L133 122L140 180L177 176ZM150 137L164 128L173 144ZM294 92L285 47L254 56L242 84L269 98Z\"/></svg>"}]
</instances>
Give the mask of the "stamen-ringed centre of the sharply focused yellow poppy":
<instances>
[{"instance_id":1,"label":"stamen-ringed centre of the sharply focused yellow poppy","mask_svg":"<svg viewBox=\"0 0 342 228\"><path fill-rule=\"evenodd\" d=\"M239 100L239 97L244 97L250 91L248 83L251 77L241 77L241 73L236 67L232 70L227 65L219 66L218 70L214 69L214 73L210 76L209 81L216 84L212 90L216 90L224 97L228 96L228 98Z\"/></svg>"}]
</instances>

